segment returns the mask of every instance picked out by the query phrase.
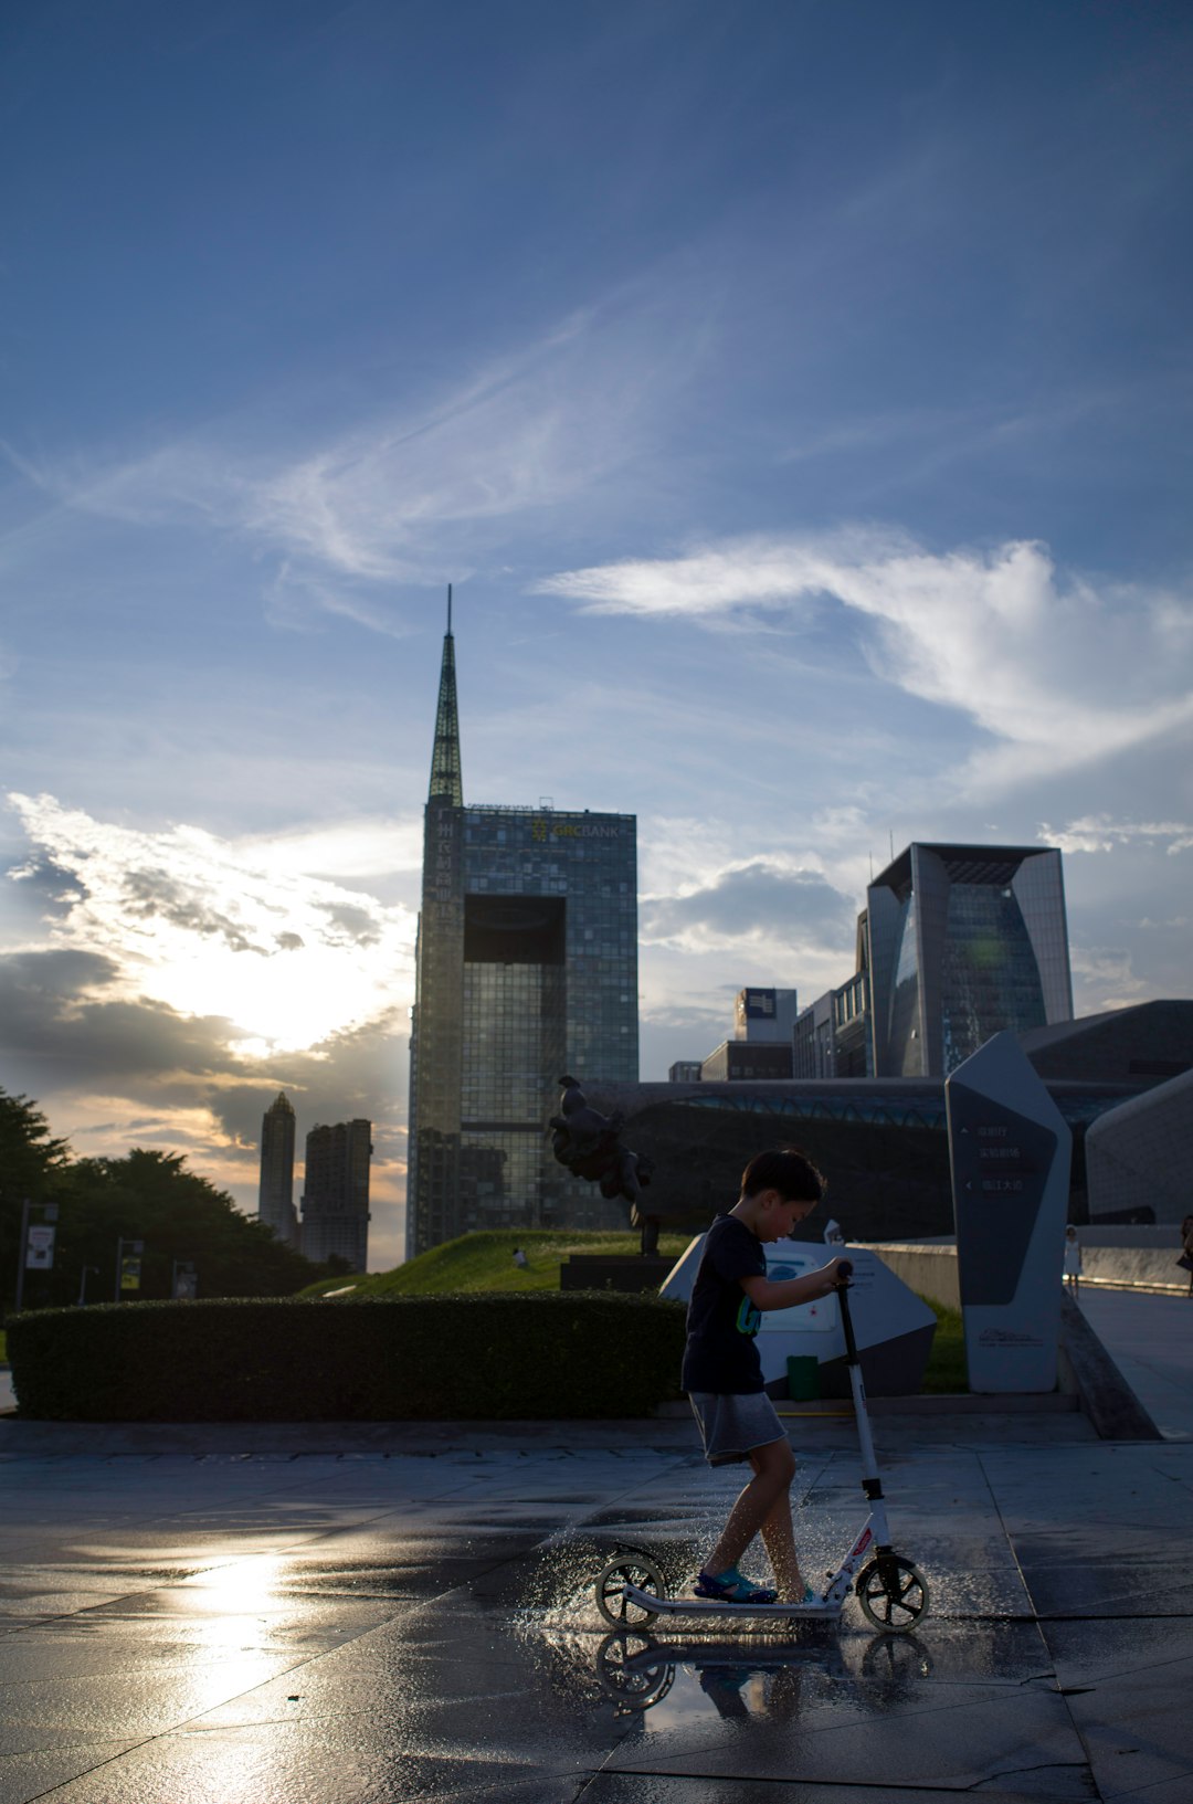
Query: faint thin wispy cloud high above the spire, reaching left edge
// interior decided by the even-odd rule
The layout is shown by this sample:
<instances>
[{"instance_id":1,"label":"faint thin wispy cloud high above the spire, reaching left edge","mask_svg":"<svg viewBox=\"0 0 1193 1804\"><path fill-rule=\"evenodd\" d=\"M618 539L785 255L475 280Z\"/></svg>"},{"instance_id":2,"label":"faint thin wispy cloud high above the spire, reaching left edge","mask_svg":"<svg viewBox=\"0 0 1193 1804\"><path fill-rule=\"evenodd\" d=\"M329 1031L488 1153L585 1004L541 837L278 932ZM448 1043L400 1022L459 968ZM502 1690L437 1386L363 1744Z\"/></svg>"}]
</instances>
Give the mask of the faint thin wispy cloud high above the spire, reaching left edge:
<instances>
[{"instance_id":1,"label":"faint thin wispy cloud high above the spire, reaching left edge","mask_svg":"<svg viewBox=\"0 0 1193 1804\"><path fill-rule=\"evenodd\" d=\"M626 283L439 388L401 370L388 400L307 428L298 455L265 408L132 458L0 449L58 509L202 525L274 554L278 624L323 610L401 635L377 584L462 577L504 521L578 507L652 449L704 355L693 314L657 276Z\"/></svg>"}]
</instances>

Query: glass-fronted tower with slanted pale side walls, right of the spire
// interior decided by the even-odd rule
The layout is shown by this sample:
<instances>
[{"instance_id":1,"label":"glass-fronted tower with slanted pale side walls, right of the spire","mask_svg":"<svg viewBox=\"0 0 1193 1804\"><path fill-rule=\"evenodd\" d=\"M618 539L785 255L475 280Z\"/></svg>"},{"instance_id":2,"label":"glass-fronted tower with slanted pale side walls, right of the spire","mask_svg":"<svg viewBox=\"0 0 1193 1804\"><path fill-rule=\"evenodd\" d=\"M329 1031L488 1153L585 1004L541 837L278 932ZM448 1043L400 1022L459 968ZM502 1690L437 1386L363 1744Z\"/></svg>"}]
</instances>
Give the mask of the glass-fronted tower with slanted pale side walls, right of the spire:
<instances>
[{"instance_id":1,"label":"glass-fronted tower with slanted pale side walls, right of the spire","mask_svg":"<svg viewBox=\"0 0 1193 1804\"><path fill-rule=\"evenodd\" d=\"M875 1077L948 1077L991 1034L1072 1021L1054 848L911 844L866 920Z\"/></svg>"}]
</instances>

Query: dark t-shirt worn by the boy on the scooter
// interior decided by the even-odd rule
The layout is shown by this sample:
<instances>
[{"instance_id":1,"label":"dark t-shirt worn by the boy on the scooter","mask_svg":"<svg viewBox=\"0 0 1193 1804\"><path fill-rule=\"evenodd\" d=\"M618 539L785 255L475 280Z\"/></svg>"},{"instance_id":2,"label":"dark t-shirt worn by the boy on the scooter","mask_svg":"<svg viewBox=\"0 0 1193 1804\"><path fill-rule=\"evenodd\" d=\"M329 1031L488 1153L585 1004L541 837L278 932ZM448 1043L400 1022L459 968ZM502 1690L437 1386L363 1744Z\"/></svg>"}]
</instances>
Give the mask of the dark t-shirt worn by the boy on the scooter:
<instances>
[{"instance_id":1,"label":"dark t-shirt worn by the boy on the scooter","mask_svg":"<svg viewBox=\"0 0 1193 1804\"><path fill-rule=\"evenodd\" d=\"M744 1277L765 1274L767 1256L758 1236L736 1216L718 1216L704 1238L688 1302L684 1391L742 1396L765 1389L754 1346L762 1313L740 1284Z\"/></svg>"}]
</instances>

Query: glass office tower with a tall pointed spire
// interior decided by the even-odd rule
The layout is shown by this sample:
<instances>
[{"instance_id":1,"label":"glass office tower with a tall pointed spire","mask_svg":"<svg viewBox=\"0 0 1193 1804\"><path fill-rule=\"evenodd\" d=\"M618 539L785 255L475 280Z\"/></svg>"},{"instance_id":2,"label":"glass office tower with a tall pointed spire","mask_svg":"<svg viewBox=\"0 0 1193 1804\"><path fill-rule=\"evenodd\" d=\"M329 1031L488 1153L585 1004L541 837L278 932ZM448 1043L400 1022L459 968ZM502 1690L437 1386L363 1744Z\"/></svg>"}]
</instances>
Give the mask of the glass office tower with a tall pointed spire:
<instances>
[{"instance_id":1,"label":"glass office tower with a tall pointed spire","mask_svg":"<svg viewBox=\"0 0 1193 1804\"><path fill-rule=\"evenodd\" d=\"M408 1257L471 1229L624 1225L623 1205L552 1158L565 1072L637 1079L637 823L466 806L449 599L410 1035Z\"/></svg>"}]
</instances>

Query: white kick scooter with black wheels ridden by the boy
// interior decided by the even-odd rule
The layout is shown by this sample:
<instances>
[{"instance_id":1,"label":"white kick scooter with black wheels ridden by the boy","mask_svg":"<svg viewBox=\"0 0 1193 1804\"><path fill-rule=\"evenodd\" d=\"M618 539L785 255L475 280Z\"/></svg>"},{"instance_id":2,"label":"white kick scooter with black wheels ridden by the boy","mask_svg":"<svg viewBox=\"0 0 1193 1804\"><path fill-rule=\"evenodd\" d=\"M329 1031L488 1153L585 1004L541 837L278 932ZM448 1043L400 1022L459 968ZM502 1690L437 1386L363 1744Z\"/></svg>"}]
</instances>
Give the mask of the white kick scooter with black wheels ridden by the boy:
<instances>
[{"instance_id":1,"label":"white kick scooter with black wheels ridden by the boy","mask_svg":"<svg viewBox=\"0 0 1193 1804\"><path fill-rule=\"evenodd\" d=\"M846 1281L852 1270L848 1259L843 1259L841 1274ZM870 1515L836 1573L830 1573L823 1597L818 1597L812 1604L724 1604L720 1598L668 1597L666 1578L655 1560L644 1553L619 1553L608 1562L596 1582L597 1609L615 1629L641 1629L657 1616L745 1616L751 1622L756 1618L836 1622L845 1607L850 1582L859 1566L861 1571L857 1573L854 1589L857 1591L863 1615L875 1629L884 1634L906 1634L928 1613L928 1580L911 1560L895 1553L890 1544L883 1481L870 1434L866 1389L861 1378L861 1360L857 1357L846 1292L848 1283L837 1286L841 1328L845 1330L845 1360L854 1393L857 1441L861 1445L861 1488L870 1501ZM863 1566L861 1562L870 1550L874 1550L872 1559Z\"/></svg>"}]
</instances>

